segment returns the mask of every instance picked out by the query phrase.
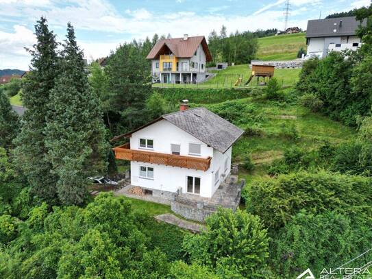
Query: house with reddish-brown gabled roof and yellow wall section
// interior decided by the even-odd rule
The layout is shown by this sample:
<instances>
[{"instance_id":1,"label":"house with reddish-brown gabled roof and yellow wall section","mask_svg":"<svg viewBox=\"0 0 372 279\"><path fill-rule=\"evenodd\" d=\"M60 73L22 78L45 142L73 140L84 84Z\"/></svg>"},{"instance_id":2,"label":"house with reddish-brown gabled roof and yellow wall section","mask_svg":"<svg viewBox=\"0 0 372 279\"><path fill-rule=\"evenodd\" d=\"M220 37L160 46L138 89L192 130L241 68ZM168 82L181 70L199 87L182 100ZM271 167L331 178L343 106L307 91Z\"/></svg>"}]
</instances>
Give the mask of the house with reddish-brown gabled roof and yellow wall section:
<instances>
[{"instance_id":1,"label":"house with reddish-brown gabled roof and yellow wall section","mask_svg":"<svg viewBox=\"0 0 372 279\"><path fill-rule=\"evenodd\" d=\"M206 79L206 62L212 61L204 36L159 40L147 59L153 79L160 83L195 83Z\"/></svg>"}]
</instances>

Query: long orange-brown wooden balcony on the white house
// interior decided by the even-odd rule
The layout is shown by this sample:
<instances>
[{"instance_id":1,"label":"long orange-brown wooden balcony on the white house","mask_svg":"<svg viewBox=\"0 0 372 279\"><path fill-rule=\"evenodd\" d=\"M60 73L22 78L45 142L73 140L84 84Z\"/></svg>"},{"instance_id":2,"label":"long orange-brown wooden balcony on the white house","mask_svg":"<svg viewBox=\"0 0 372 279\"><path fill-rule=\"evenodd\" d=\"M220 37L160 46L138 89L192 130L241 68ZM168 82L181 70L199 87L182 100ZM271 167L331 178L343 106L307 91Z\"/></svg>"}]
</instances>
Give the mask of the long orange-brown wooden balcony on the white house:
<instances>
[{"instance_id":1,"label":"long orange-brown wooden balcony on the white house","mask_svg":"<svg viewBox=\"0 0 372 279\"><path fill-rule=\"evenodd\" d=\"M186 169L197 169L199 171L207 171L210 167L210 160L212 160L210 157L195 158L152 151L134 150L130 149L129 143L119 147L114 147L112 150L114 150L115 158L120 160L149 162L151 164L184 167Z\"/></svg>"}]
</instances>

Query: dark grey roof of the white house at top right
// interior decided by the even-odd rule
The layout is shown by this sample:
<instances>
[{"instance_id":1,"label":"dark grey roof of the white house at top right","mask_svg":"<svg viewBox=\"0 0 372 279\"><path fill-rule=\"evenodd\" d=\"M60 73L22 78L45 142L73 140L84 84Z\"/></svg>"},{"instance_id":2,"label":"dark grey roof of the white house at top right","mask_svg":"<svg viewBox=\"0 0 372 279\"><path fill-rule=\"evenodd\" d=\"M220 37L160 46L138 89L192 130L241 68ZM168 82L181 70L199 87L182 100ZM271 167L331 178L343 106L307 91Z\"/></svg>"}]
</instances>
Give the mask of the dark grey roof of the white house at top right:
<instances>
[{"instance_id":1,"label":"dark grey roof of the white house at top right","mask_svg":"<svg viewBox=\"0 0 372 279\"><path fill-rule=\"evenodd\" d=\"M341 26L340 21L343 21ZM306 29L306 38L356 35L359 23L355 16L310 20Z\"/></svg>"}]
</instances>

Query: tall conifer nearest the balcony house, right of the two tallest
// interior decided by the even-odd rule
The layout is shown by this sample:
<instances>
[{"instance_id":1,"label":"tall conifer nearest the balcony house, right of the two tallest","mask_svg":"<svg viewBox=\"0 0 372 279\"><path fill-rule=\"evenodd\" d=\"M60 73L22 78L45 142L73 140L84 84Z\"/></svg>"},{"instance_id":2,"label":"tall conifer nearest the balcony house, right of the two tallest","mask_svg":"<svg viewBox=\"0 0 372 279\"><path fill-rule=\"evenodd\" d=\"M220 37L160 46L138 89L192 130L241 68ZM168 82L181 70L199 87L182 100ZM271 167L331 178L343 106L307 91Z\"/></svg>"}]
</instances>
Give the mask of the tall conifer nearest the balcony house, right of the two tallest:
<instances>
[{"instance_id":1,"label":"tall conifer nearest the balcony house, right of the two tallest","mask_svg":"<svg viewBox=\"0 0 372 279\"><path fill-rule=\"evenodd\" d=\"M51 90L45 131L47 158L58 177L58 197L62 204L82 204L87 176L106 170L108 143L101 103L89 87L83 58L69 23L61 73Z\"/></svg>"}]
</instances>

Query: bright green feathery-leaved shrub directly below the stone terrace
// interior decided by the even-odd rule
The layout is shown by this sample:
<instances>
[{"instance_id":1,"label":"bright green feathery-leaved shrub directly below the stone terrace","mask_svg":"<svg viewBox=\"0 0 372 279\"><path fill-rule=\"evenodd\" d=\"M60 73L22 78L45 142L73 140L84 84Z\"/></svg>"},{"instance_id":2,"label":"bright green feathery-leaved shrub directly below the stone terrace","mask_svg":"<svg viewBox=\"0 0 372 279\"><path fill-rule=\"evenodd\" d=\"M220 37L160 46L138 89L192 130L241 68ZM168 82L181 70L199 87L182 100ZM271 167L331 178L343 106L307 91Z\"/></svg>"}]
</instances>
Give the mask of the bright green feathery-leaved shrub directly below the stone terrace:
<instances>
[{"instance_id":1,"label":"bright green feathery-leaved shrub directly below the stone terrace","mask_svg":"<svg viewBox=\"0 0 372 279\"><path fill-rule=\"evenodd\" d=\"M207 230L186 235L184 249L191 261L225 274L258 278L269 256L269 239L260 218L244 211L219 209L206 220ZM230 274L231 274L230 273Z\"/></svg>"}]
</instances>

